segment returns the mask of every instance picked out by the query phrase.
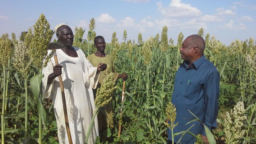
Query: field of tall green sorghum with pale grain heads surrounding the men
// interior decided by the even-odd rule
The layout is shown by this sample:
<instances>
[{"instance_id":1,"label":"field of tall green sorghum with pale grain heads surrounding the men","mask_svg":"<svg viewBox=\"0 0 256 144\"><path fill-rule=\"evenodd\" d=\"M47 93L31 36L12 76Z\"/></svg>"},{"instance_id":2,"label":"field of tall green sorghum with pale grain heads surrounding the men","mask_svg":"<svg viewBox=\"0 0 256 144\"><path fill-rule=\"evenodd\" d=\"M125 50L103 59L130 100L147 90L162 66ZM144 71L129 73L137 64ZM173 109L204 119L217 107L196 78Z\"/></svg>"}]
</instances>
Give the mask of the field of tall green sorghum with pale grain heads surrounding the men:
<instances>
[{"instance_id":1,"label":"field of tall green sorghum with pale grain heads surrounding the men","mask_svg":"<svg viewBox=\"0 0 256 144\"><path fill-rule=\"evenodd\" d=\"M95 20L91 19L88 34L83 28L74 31L74 46L85 55L96 52L93 45ZM106 53L114 57L116 71L129 75L125 84L125 99L121 103L123 81L114 91L113 129L108 129L109 139L103 143L164 143L164 124L167 104L171 101L175 72L183 60L179 47L184 36L170 38L167 27L161 34L137 40L116 38L106 46ZM53 30L41 14L32 29L0 38L0 106L1 143L58 143L57 124L52 101L42 98L41 80L45 50L52 40ZM83 39L86 37L87 39ZM220 73L220 98L218 128L213 130L216 143L256 143L256 45L254 39L234 40L223 45L214 34L198 35L206 42L205 57ZM178 39L173 44L173 39ZM54 42L58 42L54 39ZM122 108L122 121L119 122ZM169 109L170 110L170 109ZM122 131L118 138L118 124ZM212 143L212 142L211 142ZM214 142L213 142L214 143Z\"/></svg>"}]
</instances>

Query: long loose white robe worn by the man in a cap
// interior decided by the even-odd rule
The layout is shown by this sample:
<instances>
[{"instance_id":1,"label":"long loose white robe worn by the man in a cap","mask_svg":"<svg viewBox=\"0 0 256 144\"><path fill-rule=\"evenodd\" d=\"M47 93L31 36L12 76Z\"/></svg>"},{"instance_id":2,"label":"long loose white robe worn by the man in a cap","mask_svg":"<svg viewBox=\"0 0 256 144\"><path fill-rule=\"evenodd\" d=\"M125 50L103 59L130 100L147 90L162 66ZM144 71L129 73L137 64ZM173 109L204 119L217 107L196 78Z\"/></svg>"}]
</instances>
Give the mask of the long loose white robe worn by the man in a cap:
<instances>
[{"instance_id":1,"label":"long loose white robe worn by the man in a cap","mask_svg":"<svg viewBox=\"0 0 256 144\"><path fill-rule=\"evenodd\" d=\"M84 144L85 136L95 110L92 87L95 88L97 86L99 73L96 75L97 67L92 66L85 58L82 50L77 47L74 47L74 49L78 55L76 58L68 56L61 49L57 49L56 53L59 64L63 66L61 76L64 84L68 123L72 141L73 144ZM51 53L51 50L48 51L49 53ZM68 135L64 119L59 78L56 77L52 84L47 84L48 75L53 73L53 66L55 66L55 61L52 57L51 61L47 63L47 67L43 69L43 92L45 98L51 97L53 101L60 144L67 144ZM88 144L95 143L98 135L98 120L95 117Z\"/></svg>"}]
</instances>

